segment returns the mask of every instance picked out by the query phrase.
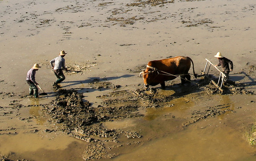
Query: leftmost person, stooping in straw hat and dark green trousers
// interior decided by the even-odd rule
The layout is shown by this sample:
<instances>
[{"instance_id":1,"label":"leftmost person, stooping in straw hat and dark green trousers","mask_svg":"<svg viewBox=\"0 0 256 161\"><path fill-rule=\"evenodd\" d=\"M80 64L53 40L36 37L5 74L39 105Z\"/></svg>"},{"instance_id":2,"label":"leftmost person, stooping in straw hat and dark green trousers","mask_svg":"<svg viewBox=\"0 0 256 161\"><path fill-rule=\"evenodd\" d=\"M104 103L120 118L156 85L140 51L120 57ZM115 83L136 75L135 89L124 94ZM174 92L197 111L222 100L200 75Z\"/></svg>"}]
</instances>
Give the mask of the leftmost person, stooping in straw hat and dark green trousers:
<instances>
[{"instance_id":1,"label":"leftmost person, stooping in straw hat and dark green trousers","mask_svg":"<svg viewBox=\"0 0 256 161\"><path fill-rule=\"evenodd\" d=\"M33 96L34 94L35 98L38 98L37 85L39 85L35 81L35 72L38 71L39 68L41 68L39 64L34 64L34 66L26 74L26 82L29 85L29 95Z\"/></svg>"}]
</instances>

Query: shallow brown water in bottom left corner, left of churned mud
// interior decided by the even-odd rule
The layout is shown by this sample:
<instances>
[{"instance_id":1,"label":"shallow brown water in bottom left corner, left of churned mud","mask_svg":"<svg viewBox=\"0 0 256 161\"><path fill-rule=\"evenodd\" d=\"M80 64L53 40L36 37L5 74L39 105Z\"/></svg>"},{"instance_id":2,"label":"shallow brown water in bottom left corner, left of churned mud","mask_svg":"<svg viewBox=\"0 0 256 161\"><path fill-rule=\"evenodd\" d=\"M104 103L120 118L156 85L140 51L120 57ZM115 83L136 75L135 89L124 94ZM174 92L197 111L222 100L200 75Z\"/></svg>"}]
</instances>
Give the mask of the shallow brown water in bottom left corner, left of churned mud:
<instances>
[{"instance_id":1,"label":"shallow brown water in bottom left corner, left of churned mud","mask_svg":"<svg viewBox=\"0 0 256 161\"><path fill-rule=\"evenodd\" d=\"M1 113L1 156L8 156L11 160L81 160L76 154L85 148L83 141L60 131L46 132L51 127L47 125L48 118L42 115L40 104L48 102L47 97L23 99L19 103L30 106L12 110L10 114Z\"/></svg>"}]
</instances>

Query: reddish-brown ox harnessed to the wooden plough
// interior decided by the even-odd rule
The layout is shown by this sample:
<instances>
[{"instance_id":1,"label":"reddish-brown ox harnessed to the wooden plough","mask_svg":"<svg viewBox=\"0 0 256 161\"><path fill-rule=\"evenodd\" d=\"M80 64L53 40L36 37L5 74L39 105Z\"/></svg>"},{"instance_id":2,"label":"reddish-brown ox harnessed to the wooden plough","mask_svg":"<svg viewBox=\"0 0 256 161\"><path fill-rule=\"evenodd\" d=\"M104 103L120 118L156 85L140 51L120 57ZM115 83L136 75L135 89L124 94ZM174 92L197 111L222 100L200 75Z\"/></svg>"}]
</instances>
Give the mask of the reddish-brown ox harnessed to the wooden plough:
<instances>
[{"instance_id":1,"label":"reddish-brown ox harnessed to the wooden plough","mask_svg":"<svg viewBox=\"0 0 256 161\"><path fill-rule=\"evenodd\" d=\"M196 78L194 63L191 58L186 56L177 56L169 59L153 60L148 62L147 69L140 72L139 76L144 80L144 86L148 89L149 85L155 86L160 84L165 88L165 81L173 80L178 76L181 77L181 83L185 83L186 79L190 79L188 73L191 62L193 65L193 73Z\"/></svg>"}]
</instances>

